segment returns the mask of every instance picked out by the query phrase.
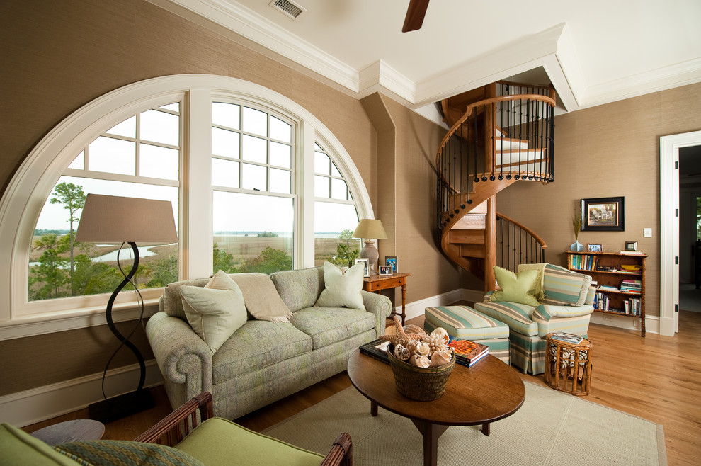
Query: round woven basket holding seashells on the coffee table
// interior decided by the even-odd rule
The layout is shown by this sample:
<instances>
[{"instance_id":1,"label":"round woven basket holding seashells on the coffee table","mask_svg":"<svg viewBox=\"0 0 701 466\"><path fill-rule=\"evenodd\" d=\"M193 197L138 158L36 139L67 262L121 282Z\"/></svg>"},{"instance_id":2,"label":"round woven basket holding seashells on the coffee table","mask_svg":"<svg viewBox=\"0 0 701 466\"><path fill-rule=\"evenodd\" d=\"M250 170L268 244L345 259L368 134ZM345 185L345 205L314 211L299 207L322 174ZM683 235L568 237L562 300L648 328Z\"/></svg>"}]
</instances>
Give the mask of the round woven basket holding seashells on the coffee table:
<instances>
[{"instance_id":1,"label":"round woven basket holding seashells on the coffee table","mask_svg":"<svg viewBox=\"0 0 701 466\"><path fill-rule=\"evenodd\" d=\"M452 373L452 368L455 367L455 356L450 363L438 368L417 368L415 365L395 358L393 351L394 345L389 345L387 351L389 366L394 373L394 383L399 393L419 402L431 402L443 396L448 377Z\"/></svg>"}]
</instances>

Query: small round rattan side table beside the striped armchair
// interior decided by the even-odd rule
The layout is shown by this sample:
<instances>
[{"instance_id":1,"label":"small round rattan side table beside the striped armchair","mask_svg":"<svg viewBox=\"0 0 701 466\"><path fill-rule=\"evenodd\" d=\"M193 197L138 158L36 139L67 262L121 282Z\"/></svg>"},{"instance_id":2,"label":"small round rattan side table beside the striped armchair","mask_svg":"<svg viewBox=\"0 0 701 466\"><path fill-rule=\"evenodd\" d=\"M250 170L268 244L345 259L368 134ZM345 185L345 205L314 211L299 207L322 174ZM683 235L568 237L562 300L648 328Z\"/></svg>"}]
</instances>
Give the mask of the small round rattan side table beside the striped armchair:
<instances>
[{"instance_id":1,"label":"small round rattan side table beside the striped armchair","mask_svg":"<svg viewBox=\"0 0 701 466\"><path fill-rule=\"evenodd\" d=\"M545 383L555 390L577 396L589 394L591 385L591 341L569 343L545 337Z\"/></svg>"}]
</instances>

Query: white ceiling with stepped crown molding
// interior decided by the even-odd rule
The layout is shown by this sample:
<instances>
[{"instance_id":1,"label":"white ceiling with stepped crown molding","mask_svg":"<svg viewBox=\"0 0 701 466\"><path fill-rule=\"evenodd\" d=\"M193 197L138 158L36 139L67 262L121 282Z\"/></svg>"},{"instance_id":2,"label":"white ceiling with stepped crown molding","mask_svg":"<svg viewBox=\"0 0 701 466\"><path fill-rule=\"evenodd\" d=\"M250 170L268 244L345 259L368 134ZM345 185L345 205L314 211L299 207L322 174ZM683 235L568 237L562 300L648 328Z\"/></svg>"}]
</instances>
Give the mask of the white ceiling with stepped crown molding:
<instances>
[{"instance_id":1,"label":"white ceiling with stepped crown molding","mask_svg":"<svg viewBox=\"0 0 701 466\"><path fill-rule=\"evenodd\" d=\"M498 79L549 80L561 111L701 82L700 0L149 0L353 96L417 109ZM529 71L533 70L533 71Z\"/></svg>"}]
</instances>

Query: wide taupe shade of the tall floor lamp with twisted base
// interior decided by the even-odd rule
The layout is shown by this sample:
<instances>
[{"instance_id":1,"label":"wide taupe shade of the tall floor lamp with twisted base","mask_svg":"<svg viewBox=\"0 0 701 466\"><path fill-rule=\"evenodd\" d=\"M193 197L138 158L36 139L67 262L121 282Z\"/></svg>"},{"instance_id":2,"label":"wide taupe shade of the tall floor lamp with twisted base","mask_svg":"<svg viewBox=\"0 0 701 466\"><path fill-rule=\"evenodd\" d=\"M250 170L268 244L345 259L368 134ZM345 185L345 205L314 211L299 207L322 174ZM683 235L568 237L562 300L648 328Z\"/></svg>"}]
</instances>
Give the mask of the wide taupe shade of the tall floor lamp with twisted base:
<instances>
[{"instance_id":1,"label":"wide taupe shade of the tall floor lamp with twisted base","mask_svg":"<svg viewBox=\"0 0 701 466\"><path fill-rule=\"evenodd\" d=\"M78 224L76 241L177 242L173 206L168 200L89 194Z\"/></svg>"}]
</instances>

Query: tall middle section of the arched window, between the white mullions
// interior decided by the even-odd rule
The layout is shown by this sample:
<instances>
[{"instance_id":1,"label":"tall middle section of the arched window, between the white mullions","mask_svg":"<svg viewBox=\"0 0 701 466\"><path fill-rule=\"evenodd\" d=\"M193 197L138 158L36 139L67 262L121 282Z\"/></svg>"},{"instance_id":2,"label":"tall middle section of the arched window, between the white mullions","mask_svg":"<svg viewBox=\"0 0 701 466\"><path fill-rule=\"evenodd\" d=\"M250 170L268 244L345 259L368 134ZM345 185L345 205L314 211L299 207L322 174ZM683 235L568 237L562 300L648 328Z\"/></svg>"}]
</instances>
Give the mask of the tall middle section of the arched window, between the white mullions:
<instances>
[{"instance_id":1,"label":"tall middle section of the arched window, between the white mullions","mask_svg":"<svg viewBox=\"0 0 701 466\"><path fill-rule=\"evenodd\" d=\"M212 272L292 269L293 139L277 115L212 102Z\"/></svg>"}]
</instances>

